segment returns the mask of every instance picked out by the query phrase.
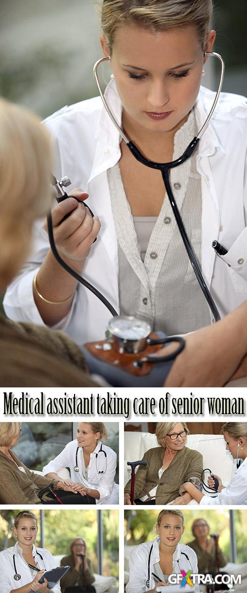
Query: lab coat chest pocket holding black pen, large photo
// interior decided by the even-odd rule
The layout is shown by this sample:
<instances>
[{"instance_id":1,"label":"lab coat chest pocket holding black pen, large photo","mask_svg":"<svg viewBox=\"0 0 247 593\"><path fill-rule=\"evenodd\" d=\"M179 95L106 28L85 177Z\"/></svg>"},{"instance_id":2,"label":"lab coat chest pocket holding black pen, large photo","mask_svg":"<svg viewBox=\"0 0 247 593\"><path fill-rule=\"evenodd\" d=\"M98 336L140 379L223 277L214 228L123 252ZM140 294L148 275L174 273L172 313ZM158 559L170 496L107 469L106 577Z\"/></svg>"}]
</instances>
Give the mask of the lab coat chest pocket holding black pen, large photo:
<instances>
[{"instance_id":1,"label":"lab coat chest pocket holding black pen, large photo","mask_svg":"<svg viewBox=\"0 0 247 593\"><path fill-rule=\"evenodd\" d=\"M224 241L222 240L224 244ZM225 256L220 256L229 264L229 275L236 292L247 291L247 227L243 229Z\"/></svg>"}]
</instances>

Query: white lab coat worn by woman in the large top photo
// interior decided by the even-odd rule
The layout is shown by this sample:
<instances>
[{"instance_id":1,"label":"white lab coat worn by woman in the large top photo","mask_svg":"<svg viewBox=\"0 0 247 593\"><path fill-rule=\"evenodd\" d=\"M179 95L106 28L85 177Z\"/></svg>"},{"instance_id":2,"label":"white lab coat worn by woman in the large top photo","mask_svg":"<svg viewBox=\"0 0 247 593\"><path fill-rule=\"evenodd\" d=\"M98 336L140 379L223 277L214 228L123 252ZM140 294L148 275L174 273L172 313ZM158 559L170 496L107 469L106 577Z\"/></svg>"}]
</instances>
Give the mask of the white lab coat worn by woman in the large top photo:
<instances>
[{"instance_id":1,"label":"white lab coat worn by woman in the large top photo","mask_svg":"<svg viewBox=\"0 0 247 593\"><path fill-rule=\"evenodd\" d=\"M106 96L120 123L121 103L114 82L108 86ZM198 129L213 97L211 91L201 88L195 104ZM120 159L119 133L100 97L57 111L46 120L46 125L52 132L56 151L53 173L59 179L68 175L72 188L82 187L88 192L88 205L101 221L101 231L91 247L83 275L118 311L118 247L107 170ZM197 149L202 187L201 266L222 317L247 298L246 148L247 101L222 93ZM216 256L211 247L214 239L227 248L226 256ZM4 299L5 312L15 321L43 324L32 283L48 248L43 221L39 221L34 231L33 253ZM97 297L79 285L70 315L56 327L82 345L102 339L110 318Z\"/></svg>"}]
</instances>

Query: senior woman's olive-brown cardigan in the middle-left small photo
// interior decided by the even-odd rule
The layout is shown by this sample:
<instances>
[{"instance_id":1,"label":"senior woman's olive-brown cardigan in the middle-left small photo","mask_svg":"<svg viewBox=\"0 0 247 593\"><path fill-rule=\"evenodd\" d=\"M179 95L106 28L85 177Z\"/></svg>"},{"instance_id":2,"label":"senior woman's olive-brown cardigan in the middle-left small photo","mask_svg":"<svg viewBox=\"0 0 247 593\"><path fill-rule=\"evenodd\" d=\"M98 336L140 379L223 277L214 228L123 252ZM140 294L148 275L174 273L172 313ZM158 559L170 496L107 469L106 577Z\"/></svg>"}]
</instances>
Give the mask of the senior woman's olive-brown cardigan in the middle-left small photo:
<instances>
[{"instance_id":1,"label":"senior woman's olive-brown cardigan in the middle-left small photo","mask_svg":"<svg viewBox=\"0 0 247 593\"><path fill-rule=\"evenodd\" d=\"M10 451L12 458L18 466L24 467L24 471L18 470L15 463L12 463L2 451L0 451L0 503L4 505L40 505L41 500L38 492L53 482L56 488L57 480L51 480L28 470L21 460ZM49 500L43 496L44 500Z\"/></svg>"}]
</instances>

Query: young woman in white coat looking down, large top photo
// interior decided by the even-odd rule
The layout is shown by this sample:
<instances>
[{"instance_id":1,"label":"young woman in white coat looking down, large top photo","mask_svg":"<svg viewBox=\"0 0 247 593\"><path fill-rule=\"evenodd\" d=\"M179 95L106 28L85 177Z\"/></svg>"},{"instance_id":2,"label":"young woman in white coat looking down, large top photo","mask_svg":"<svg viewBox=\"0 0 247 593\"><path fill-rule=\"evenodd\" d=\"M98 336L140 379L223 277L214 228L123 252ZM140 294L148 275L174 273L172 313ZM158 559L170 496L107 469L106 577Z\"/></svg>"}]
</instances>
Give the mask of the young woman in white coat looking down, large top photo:
<instances>
[{"instance_id":1,"label":"young woman in white coat looking down, large top photo","mask_svg":"<svg viewBox=\"0 0 247 593\"><path fill-rule=\"evenodd\" d=\"M152 160L181 155L210 110L214 94L200 84L205 52L216 36L211 14L211 0L102 2L101 44L114 76L107 101L126 135ZM161 174L137 163L119 142L100 98L65 108L46 125L57 147L54 173L88 192L100 219L92 221L72 197L53 209L65 259L79 273L83 269L120 313L144 317L153 329L186 333L210 324ZM245 99L222 95L194 157L171 171L185 227L222 316L247 295L246 125ZM81 192L79 199L85 197ZM36 237L33 256L5 298L7 314L61 327L79 344L101 339L110 314L58 267L41 222ZM214 252L214 239L227 249L225 256Z\"/></svg>"}]
</instances>

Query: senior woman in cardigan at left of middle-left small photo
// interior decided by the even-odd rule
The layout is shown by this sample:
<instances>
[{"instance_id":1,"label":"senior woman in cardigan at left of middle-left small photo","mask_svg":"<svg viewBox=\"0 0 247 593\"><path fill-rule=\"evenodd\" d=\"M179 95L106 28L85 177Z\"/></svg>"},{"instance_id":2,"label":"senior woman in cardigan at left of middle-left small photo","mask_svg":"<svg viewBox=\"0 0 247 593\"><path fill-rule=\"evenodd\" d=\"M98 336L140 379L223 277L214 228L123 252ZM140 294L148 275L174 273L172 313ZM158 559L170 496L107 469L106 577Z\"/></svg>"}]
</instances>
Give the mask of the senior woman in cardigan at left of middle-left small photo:
<instances>
[{"instance_id":1,"label":"senior woman in cardigan at left of middle-left small photo","mask_svg":"<svg viewBox=\"0 0 247 593\"><path fill-rule=\"evenodd\" d=\"M0 422L0 503L14 505L57 505L59 501L46 493L39 498L40 490L50 486L64 504L82 504L85 497L79 494L76 486L65 484L59 477L56 480L47 479L44 476L28 470L22 461L11 451L11 447L18 445L21 435L20 422ZM88 503L90 497L86 496Z\"/></svg>"}]
</instances>

